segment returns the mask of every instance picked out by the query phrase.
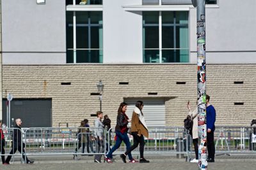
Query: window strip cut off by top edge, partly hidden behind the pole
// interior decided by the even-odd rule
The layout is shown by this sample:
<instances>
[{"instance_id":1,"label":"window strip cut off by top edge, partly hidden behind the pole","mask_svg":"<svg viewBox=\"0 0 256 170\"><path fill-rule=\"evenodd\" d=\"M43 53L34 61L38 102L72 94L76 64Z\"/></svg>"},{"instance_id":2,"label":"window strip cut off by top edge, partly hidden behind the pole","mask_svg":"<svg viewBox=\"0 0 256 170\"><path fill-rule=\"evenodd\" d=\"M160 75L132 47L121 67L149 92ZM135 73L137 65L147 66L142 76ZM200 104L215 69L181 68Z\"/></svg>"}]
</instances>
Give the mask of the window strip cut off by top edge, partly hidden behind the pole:
<instances>
[{"instance_id":1,"label":"window strip cut off by top edge, partly hidden behind the pole","mask_svg":"<svg viewBox=\"0 0 256 170\"><path fill-rule=\"evenodd\" d=\"M191 4L191 0L143 0L143 4ZM206 0L206 4L217 4L217 0Z\"/></svg>"}]
</instances>

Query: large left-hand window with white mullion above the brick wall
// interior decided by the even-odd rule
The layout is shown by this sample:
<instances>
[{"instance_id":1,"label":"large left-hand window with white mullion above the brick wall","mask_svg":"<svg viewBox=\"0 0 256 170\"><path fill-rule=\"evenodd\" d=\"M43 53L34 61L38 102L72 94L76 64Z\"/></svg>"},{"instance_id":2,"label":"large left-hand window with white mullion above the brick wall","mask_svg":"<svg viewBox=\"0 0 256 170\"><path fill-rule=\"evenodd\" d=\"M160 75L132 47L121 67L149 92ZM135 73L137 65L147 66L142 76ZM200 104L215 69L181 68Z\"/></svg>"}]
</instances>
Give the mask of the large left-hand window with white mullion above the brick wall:
<instances>
[{"instance_id":1,"label":"large left-hand window with white mullion above the brick wall","mask_svg":"<svg viewBox=\"0 0 256 170\"><path fill-rule=\"evenodd\" d=\"M102 11L67 11L67 63L102 63Z\"/></svg>"}]
</instances>

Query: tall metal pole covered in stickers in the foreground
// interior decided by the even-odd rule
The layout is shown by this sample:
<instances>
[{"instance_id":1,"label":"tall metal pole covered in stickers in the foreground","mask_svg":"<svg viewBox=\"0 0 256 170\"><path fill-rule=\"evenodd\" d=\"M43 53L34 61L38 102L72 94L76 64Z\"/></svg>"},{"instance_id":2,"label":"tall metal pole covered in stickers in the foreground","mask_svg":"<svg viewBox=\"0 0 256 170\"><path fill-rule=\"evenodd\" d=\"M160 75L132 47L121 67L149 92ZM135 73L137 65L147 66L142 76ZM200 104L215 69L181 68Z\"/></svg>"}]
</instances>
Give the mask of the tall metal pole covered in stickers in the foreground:
<instances>
[{"instance_id":1,"label":"tall metal pole covered in stickers in the foreground","mask_svg":"<svg viewBox=\"0 0 256 170\"><path fill-rule=\"evenodd\" d=\"M207 169L205 0L196 0L197 90L198 90L198 166Z\"/></svg>"}]
</instances>

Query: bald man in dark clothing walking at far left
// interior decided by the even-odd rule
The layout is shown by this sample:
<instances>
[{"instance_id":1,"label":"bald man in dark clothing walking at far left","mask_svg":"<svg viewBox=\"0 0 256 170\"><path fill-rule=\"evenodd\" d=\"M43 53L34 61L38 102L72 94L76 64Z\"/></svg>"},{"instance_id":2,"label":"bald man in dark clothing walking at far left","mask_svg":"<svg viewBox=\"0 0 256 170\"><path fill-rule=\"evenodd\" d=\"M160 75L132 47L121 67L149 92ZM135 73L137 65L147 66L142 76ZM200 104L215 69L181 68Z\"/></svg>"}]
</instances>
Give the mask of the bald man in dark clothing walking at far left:
<instances>
[{"instance_id":1,"label":"bald man in dark clothing walking at far left","mask_svg":"<svg viewBox=\"0 0 256 170\"><path fill-rule=\"evenodd\" d=\"M19 150L19 152L22 154L22 158L26 161L26 164L33 164L34 161L29 160L28 157L25 157L24 153L25 153L25 144L22 142L22 138L21 138L21 125L22 125L22 121L20 118L17 118L15 120L16 124L14 126L15 129L13 129L13 136L12 136L12 150L10 152L10 155L8 155L8 157L6 158L5 162L6 164L10 164L10 160L12 158L12 155Z\"/></svg>"}]
</instances>

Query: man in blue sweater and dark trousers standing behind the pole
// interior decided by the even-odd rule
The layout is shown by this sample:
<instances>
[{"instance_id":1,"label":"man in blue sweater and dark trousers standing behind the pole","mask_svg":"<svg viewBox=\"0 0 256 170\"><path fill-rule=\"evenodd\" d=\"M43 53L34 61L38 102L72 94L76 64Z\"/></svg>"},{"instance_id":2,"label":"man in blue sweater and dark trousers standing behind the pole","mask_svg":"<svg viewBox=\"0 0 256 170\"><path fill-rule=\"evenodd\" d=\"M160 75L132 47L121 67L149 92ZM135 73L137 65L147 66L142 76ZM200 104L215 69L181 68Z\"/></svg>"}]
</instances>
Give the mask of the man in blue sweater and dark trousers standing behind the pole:
<instances>
[{"instance_id":1,"label":"man in blue sweater and dark trousers standing behind the pole","mask_svg":"<svg viewBox=\"0 0 256 170\"><path fill-rule=\"evenodd\" d=\"M216 111L214 107L209 103L210 96L206 95L206 120L207 120L207 148L208 148L208 159L207 162L214 162L215 145L214 145L214 130Z\"/></svg>"}]
</instances>

